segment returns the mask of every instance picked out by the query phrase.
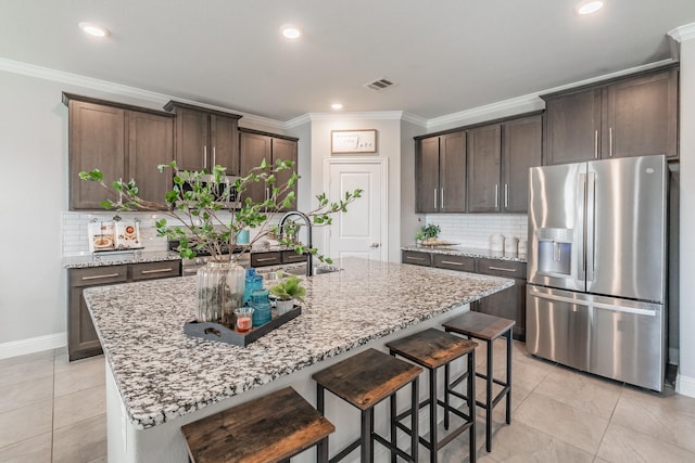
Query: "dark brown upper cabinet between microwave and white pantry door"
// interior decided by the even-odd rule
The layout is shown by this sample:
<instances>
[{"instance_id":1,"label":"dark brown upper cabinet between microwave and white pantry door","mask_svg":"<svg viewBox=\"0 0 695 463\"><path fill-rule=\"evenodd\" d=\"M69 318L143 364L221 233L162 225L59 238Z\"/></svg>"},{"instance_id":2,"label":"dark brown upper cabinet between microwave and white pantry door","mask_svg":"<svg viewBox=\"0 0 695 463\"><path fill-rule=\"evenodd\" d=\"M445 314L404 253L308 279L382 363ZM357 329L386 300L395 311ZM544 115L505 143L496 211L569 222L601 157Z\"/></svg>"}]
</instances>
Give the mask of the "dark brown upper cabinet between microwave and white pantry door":
<instances>
[{"instance_id":1,"label":"dark brown upper cabinet between microwave and white pantry door","mask_svg":"<svg viewBox=\"0 0 695 463\"><path fill-rule=\"evenodd\" d=\"M277 173L276 185L287 183L298 168L298 139L258 130L239 129L239 146L241 155L241 176L247 176L251 169L258 167L263 159L267 163L276 164L279 159L291 160L294 167L291 170L283 170ZM294 184L296 197L296 183ZM250 183L245 193L242 193L241 201L251 197L254 203L267 200L271 194L269 185L261 182ZM279 198L281 200L281 197ZM296 205L296 202L293 206Z\"/></svg>"}]
</instances>

